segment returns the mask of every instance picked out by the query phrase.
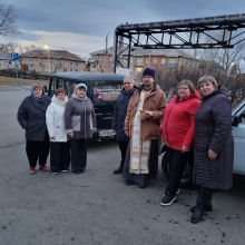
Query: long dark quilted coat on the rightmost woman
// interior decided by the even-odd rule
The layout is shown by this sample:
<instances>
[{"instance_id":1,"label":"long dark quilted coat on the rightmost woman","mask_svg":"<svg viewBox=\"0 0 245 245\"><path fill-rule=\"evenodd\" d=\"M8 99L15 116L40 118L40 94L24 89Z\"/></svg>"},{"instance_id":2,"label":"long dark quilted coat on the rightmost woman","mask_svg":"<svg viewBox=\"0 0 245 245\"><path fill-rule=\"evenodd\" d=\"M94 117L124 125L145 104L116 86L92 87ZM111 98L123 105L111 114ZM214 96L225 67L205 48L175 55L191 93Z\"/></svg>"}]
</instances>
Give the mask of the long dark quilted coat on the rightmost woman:
<instances>
[{"instance_id":1,"label":"long dark quilted coat on the rightmost woman","mask_svg":"<svg viewBox=\"0 0 245 245\"><path fill-rule=\"evenodd\" d=\"M229 189L233 184L234 139L232 106L225 87L205 96L195 118L194 180L214 188ZM217 153L210 160L208 150Z\"/></svg>"}]
</instances>

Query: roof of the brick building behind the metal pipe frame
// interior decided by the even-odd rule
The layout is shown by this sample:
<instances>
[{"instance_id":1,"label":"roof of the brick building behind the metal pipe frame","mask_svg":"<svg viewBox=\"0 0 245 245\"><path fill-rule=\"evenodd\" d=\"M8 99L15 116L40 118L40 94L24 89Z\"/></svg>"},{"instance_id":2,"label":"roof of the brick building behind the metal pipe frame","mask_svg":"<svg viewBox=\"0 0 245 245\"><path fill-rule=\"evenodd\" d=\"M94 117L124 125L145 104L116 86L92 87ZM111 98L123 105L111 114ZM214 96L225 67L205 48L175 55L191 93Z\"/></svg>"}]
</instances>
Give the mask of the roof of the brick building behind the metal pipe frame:
<instances>
[{"instance_id":1,"label":"roof of the brick building behind the metal pipe frame","mask_svg":"<svg viewBox=\"0 0 245 245\"><path fill-rule=\"evenodd\" d=\"M126 48L126 47L125 47ZM108 55L112 55L114 48L110 47L107 49ZM105 55L106 49L101 49L95 52L90 52L91 56L98 56L98 55ZM184 52L180 49L143 49L143 48L131 48L131 56L166 56L166 57L186 57L194 59L193 56L189 56L188 53ZM128 55L128 50L125 50L122 52L124 55Z\"/></svg>"}]
</instances>

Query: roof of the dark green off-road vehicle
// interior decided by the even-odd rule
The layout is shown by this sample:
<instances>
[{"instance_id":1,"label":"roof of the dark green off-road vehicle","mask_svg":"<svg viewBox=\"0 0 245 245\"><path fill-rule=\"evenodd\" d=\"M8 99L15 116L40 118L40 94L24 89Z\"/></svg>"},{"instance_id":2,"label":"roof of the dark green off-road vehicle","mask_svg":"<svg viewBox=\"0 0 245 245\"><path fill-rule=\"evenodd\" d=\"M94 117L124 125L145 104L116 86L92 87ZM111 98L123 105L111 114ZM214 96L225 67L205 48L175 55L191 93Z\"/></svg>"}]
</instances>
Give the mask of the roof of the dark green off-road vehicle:
<instances>
[{"instance_id":1,"label":"roof of the dark green off-road vehicle","mask_svg":"<svg viewBox=\"0 0 245 245\"><path fill-rule=\"evenodd\" d=\"M61 77L78 81L122 81L126 76L104 72L59 72L55 74L53 77Z\"/></svg>"}]
</instances>

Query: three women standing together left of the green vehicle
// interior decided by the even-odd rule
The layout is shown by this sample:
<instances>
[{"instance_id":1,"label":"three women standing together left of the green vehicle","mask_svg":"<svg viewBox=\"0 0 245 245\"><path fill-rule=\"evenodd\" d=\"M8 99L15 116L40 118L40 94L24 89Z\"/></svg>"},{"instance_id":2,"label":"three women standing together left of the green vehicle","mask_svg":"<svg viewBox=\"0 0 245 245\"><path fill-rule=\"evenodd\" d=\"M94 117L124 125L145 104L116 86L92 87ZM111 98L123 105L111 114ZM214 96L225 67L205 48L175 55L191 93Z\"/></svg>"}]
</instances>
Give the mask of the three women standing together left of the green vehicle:
<instances>
[{"instance_id":1,"label":"three women standing together left of the green vehicle","mask_svg":"<svg viewBox=\"0 0 245 245\"><path fill-rule=\"evenodd\" d=\"M87 165L87 140L96 130L96 117L91 100L86 96L87 86L78 84L68 100L62 88L52 99L45 95L43 86L33 84L31 95L23 99L18 110L18 121L26 129L26 151L29 174L46 166L50 150L50 171L67 173L71 163L75 174L84 173Z\"/></svg>"}]
</instances>

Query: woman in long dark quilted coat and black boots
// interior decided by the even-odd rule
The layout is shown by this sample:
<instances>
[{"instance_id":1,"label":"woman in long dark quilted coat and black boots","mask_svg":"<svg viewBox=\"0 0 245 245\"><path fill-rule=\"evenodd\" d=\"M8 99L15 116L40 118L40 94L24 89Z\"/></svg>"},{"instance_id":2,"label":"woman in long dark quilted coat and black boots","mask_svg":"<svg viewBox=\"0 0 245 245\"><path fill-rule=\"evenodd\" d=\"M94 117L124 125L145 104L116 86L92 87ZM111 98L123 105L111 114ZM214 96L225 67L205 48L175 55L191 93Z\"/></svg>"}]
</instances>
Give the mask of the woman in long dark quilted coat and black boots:
<instances>
[{"instance_id":1,"label":"woman in long dark quilted coat and black boots","mask_svg":"<svg viewBox=\"0 0 245 245\"><path fill-rule=\"evenodd\" d=\"M198 80L202 104L195 118L194 182L199 185L190 222L202 220L204 210L213 210L214 192L229 189L233 184L234 139L228 90L217 87L210 76Z\"/></svg>"}]
</instances>

